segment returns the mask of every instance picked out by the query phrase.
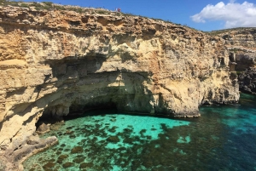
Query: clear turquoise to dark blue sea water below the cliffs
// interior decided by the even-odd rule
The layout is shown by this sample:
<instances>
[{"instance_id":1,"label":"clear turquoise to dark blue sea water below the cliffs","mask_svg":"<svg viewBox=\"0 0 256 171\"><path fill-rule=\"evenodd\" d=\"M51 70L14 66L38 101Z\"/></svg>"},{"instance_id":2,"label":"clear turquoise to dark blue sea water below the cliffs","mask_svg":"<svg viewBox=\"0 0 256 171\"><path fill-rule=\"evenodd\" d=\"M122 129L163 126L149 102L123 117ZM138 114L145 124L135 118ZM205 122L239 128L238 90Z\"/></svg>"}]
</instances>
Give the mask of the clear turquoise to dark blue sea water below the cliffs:
<instances>
[{"instance_id":1,"label":"clear turquoise to dark blue sea water below the cliffs","mask_svg":"<svg viewBox=\"0 0 256 171\"><path fill-rule=\"evenodd\" d=\"M59 144L26 160L25 170L256 170L256 96L203 106L200 118L186 120L106 113L56 125L44 136Z\"/></svg>"}]
</instances>

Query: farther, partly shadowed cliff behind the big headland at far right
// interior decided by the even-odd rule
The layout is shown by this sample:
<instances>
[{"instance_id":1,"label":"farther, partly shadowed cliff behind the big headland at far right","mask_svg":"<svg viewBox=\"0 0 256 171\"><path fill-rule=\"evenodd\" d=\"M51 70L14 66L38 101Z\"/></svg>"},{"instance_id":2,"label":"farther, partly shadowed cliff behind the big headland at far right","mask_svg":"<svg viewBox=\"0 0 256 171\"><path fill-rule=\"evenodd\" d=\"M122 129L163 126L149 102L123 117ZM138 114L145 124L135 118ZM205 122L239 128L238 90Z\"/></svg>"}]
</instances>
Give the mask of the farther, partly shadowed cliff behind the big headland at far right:
<instances>
[{"instance_id":1,"label":"farther, partly shadowed cliff behind the big headland at far right","mask_svg":"<svg viewBox=\"0 0 256 171\"><path fill-rule=\"evenodd\" d=\"M256 29L231 29L218 33L218 36L224 38L231 62L236 63L234 70L239 74L240 91L256 94Z\"/></svg>"}]
</instances>

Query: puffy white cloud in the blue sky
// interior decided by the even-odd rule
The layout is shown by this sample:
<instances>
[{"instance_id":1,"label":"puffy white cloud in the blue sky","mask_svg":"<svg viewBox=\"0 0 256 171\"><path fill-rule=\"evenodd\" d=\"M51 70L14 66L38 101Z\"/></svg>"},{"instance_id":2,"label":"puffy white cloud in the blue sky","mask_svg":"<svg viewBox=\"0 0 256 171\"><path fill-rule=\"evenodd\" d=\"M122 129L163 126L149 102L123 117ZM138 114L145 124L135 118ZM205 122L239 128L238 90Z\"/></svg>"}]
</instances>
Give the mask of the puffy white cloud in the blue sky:
<instances>
[{"instance_id":1,"label":"puffy white cloud in the blue sky","mask_svg":"<svg viewBox=\"0 0 256 171\"><path fill-rule=\"evenodd\" d=\"M253 3L230 3L208 4L199 14L190 16L195 22L205 23L208 20L222 20L225 28L256 26L256 5Z\"/></svg>"}]
</instances>

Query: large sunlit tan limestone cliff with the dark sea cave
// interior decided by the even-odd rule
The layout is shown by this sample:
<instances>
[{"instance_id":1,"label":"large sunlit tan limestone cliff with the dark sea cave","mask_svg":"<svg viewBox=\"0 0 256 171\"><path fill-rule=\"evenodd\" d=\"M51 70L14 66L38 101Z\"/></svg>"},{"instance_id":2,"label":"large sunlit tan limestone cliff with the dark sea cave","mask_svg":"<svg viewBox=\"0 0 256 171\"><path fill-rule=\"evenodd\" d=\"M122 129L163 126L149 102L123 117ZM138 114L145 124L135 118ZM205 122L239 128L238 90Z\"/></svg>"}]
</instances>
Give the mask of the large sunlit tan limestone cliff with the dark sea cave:
<instances>
[{"instance_id":1,"label":"large sunlit tan limestone cliff with the dark sea cave","mask_svg":"<svg viewBox=\"0 0 256 171\"><path fill-rule=\"evenodd\" d=\"M0 8L0 146L17 148L38 118L99 106L198 117L239 99L224 40L160 20Z\"/></svg>"}]
</instances>

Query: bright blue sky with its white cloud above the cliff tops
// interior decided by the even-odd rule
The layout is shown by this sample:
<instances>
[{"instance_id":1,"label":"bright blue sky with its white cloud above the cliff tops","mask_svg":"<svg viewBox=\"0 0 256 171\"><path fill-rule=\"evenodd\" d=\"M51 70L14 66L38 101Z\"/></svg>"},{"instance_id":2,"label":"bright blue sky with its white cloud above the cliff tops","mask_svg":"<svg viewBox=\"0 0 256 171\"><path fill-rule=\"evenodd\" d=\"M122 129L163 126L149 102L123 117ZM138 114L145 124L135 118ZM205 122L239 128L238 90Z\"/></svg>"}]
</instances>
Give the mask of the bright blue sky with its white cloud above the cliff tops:
<instances>
[{"instance_id":1,"label":"bright blue sky with its white cloud above the cliff tops","mask_svg":"<svg viewBox=\"0 0 256 171\"><path fill-rule=\"evenodd\" d=\"M45 1L110 10L120 8L123 13L169 20L201 31L256 26L256 0L36 0Z\"/></svg>"}]
</instances>

